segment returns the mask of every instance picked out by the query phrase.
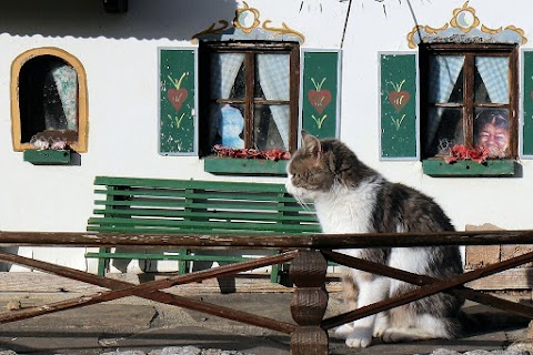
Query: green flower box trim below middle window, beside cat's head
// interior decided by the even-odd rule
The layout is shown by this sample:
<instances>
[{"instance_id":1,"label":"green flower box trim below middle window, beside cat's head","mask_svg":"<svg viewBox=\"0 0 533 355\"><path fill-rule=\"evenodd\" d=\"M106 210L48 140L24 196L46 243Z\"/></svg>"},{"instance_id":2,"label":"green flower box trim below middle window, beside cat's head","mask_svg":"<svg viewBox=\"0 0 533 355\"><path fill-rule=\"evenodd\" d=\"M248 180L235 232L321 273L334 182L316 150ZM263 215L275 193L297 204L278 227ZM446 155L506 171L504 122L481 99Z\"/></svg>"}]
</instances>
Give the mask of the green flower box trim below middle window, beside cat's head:
<instances>
[{"instance_id":1,"label":"green flower box trim below middle window, beside cat's head","mask_svg":"<svg viewBox=\"0 0 533 355\"><path fill-rule=\"evenodd\" d=\"M210 156L203 160L204 171L222 175L286 175L286 160Z\"/></svg>"}]
</instances>

